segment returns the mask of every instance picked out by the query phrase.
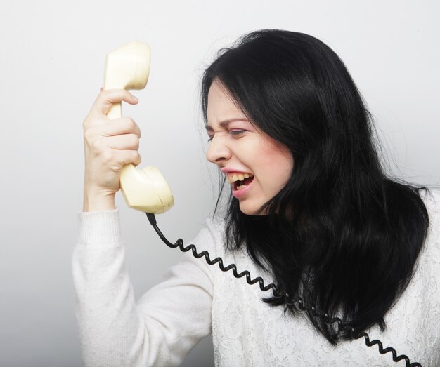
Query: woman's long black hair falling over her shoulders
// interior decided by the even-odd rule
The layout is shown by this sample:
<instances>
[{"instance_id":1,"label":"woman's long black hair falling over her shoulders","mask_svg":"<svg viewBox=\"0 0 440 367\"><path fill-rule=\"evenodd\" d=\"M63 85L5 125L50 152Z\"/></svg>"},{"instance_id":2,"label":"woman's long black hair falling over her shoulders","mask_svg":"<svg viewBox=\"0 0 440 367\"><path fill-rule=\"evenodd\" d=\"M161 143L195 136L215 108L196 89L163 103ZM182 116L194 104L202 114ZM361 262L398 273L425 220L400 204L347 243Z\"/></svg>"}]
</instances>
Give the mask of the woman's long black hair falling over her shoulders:
<instances>
[{"instance_id":1,"label":"woman's long black hair falling over her shoulders","mask_svg":"<svg viewBox=\"0 0 440 367\"><path fill-rule=\"evenodd\" d=\"M342 60L307 34L246 34L205 70L205 122L214 79L294 159L285 187L261 208L268 215L243 214L231 196L227 248L246 246L280 290L339 316L356 332L375 324L384 330L384 315L408 286L427 236L420 198L427 188L384 173L372 118ZM265 302L284 305L275 297ZM351 337L308 316L332 344Z\"/></svg>"}]
</instances>

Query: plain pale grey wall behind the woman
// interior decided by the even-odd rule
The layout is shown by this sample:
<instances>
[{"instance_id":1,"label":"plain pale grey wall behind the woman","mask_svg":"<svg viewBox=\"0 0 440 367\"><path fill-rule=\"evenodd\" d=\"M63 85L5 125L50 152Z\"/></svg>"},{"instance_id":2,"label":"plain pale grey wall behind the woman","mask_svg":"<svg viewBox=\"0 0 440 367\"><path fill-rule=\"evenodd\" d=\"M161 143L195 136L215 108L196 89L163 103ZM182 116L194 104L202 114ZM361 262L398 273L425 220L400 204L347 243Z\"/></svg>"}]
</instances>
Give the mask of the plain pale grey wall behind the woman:
<instances>
[{"instance_id":1,"label":"plain pale grey wall behind the woman","mask_svg":"<svg viewBox=\"0 0 440 367\"><path fill-rule=\"evenodd\" d=\"M375 116L384 159L420 185L440 181L440 3L420 1L12 1L0 4L0 365L81 366L71 255L82 209L82 121L103 85L105 55L152 49L140 103L141 166L174 193L158 217L190 241L212 213L198 87L219 48L255 29L316 36L351 72ZM214 182L214 183L212 183ZM138 298L179 257L117 195ZM225 275L228 276L228 275ZM205 338L183 366L212 366Z\"/></svg>"}]
</instances>

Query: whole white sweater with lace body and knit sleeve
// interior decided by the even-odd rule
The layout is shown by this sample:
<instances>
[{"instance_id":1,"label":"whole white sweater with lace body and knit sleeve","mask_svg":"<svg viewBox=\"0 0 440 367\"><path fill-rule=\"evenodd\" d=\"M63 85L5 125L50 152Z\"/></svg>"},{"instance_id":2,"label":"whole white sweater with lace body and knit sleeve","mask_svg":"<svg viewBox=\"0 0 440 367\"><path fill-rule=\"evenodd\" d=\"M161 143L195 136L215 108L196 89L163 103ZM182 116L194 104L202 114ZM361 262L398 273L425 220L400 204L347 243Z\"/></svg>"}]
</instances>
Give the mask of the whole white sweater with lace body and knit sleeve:
<instances>
[{"instance_id":1,"label":"whole white sweater with lace body and knit sleeve","mask_svg":"<svg viewBox=\"0 0 440 367\"><path fill-rule=\"evenodd\" d=\"M411 362L440 366L440 194L425 203L431 223L413 279L385 316L386 331L368 333ZM225 253L221 226L212 221L192 243L271 282L245 250ZM117 210L79 213L72 265L85 366L179 366L209 333L216 366L405 366L376 345L366 347L363 338L332 347L305 316L262 302L269 293L257 284L190 253L135 302Z\"/></svg>"}]
</instances>

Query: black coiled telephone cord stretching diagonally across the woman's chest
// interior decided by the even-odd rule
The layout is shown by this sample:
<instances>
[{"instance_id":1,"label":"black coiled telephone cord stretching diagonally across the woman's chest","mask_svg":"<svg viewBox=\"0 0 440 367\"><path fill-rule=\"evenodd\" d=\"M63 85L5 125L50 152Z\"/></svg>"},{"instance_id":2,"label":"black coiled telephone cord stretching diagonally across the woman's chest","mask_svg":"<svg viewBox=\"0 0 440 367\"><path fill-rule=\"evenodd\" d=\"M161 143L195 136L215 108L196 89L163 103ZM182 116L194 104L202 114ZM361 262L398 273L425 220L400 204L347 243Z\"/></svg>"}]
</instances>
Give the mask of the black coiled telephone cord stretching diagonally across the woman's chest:
<instances>
[{"instance_id":1,"label":"black coiled telephone cord stretching diagonally across the woman's chest","mask_svg":"<svg viewBox=\"0 0 440 367\"><path fill-rule=\"evenodd\" d=\"M327 323L328 325L331 325L332 323L337 323L337 328L339 331L350 330L351 331L351 338L354 338L357 340L357 339L363 337L365 339L365 345L367 345L367 347L372 347L373 345L377 345L377 348L379 349L380 354L386 354L388 352L391 352L394 362L399 362L402 359L404 359L405 363L406 363L406 367L422 367L422 365L418 362L410 363L410 359L405 354L401 354L398 356L396 349L394 349L393 347L384 348L382 345L382 342L380 340L377 340L377 339L370 340L368 333L365 333L365 331L361 331L361 333L355 333L354 328L351 327L349 323L344 323L341 319L339 319L339 317L333 317L332 319L330 319L330 316L327 313L319 312L316 309L316 307L314 307L313 305L308 309L306 307L306 305L304 305L304 301L302 300L301 297L290 298L290 295L288 293L280 292L278 290L278 287L274 283L270 283L265 286L264 280L261 278L261 276L257 276L257 278L252 279L250 272L248 272L247 270L238 273L237 267L235 266L235 264L230 264L227 267L225 267L223 264L223 260L221 258L215 258L214 260L211 260L211 258L209 257L209 253L207 251L202 251L201 253L198 253L197 248L192 243L190 243L188 246L185 247L182 239L178 239L176 241L176 243L169 242L165 238L165 236L162 234L159 227L157 227L155 215L150 214L150 213L145 213L145 214L147 215L147 218L148 218L148 221L150 222L150 225L153 226L153 228L155 229L157 234L160 236L160 239L162 239L162 241L168 247L170 247L170 248L179 247L181 249L181 251L183 251L183 252L191 251L195 258L202 258L203 256L205 256L205 260L209 265L214 265L214 264L218 263L219 268L223 272L228 272L228 270L232 269L233 276L235 276L235 278L242 278L243 276L246 276L246 281L248 284L250 284L252 286L253 284L258 283L261 291L266 292L266 291L272 290L274 297L285 298L286 305L298 304L299 309L302 309L302 311L309 310L311 312L311 314L313 315L313 317L322 317L324 322Z\"/></svg>"}]
</instances>

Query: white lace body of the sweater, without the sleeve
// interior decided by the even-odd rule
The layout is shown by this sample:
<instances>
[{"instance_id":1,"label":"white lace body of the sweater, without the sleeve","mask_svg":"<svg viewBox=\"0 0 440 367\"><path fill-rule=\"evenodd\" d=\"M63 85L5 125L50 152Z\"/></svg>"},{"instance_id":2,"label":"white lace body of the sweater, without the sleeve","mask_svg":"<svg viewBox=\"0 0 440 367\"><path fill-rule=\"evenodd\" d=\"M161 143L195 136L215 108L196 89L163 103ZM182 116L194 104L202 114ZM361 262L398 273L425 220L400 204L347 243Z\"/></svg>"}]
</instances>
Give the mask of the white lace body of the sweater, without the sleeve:
<instances>
[{"instance_id":1,"label":"white lace body of the sweater, without the sleeve","mask_svg":"<svg viewBox=\"0 0 440 367\"><path fill-rule=\"evenodd\" d=\"M430 227L418 258L413 279L396 305L385 316L384 332L370 328L370 340L394 347L411 362L440 366L440 194L433 192L425 203ZM213 225L213 224L211 224ZM212 228L221 244L221 229ZM249 270L252 278L271 282L270 274L254 265L245 250L226 252L216 246L224 264L235 263L238 272ZM283 307L271 307L261 298L257 284L232 274L214 272L212 335L216 366L405 366L367 347L363 338L340 342L333 347L311 325L304 314L291 316Z\"/></svg>"}]
</instances>

